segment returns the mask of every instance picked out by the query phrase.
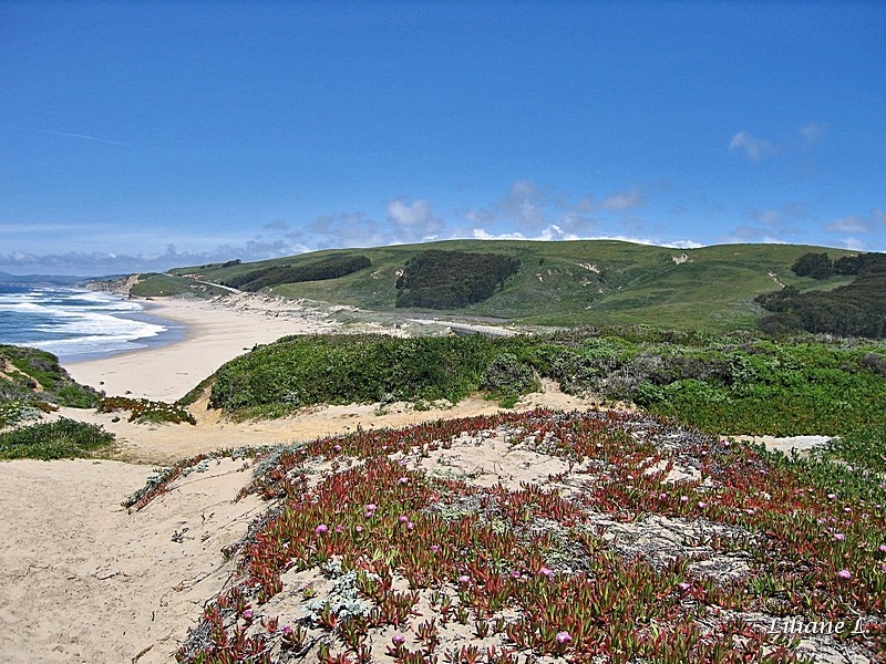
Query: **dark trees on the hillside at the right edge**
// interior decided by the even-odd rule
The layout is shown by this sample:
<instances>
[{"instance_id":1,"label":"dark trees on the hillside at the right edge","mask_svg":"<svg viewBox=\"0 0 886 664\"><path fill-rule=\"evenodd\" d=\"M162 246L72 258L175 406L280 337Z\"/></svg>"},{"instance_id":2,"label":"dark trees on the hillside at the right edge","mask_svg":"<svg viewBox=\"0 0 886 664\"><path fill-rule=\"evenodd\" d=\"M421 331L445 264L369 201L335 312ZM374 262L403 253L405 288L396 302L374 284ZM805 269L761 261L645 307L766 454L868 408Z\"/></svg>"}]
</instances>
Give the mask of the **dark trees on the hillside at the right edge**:
<instances>
[{"instance_id":1,"label":"dark trees on the hillside at the right edge","mask_svg":"<svg viewBox=\"0 0 886 664\"><path fill-rule=\"evenodd\" d=\"M841 336L886 338L886 255L864 253L831 262L826 253L807 253L793 267L796 274L815 279L824 279L818 274L827 269L830 274L857 277L848 286L832 291L802 293L789 286L758 295L756 302L773 312L760 320L761 329L770 333L805 330Z\"/></svg>"}]
</instances>

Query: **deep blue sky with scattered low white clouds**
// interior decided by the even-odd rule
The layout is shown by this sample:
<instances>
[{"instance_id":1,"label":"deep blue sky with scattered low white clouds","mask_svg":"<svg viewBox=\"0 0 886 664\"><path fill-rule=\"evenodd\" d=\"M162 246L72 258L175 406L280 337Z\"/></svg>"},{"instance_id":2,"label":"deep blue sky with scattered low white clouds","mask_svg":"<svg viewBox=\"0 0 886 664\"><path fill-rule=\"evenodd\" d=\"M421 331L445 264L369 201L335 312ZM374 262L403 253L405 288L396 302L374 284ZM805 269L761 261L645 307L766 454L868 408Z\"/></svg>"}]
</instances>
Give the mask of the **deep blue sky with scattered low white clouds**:
<instances>
[{"instance_id":1,"label":"deep blue sky with scattered low white clouds","mask_svg":"<svg viewBox=\"0 0 886 664\"><path fill-rule=\"evenodd\" d=\"M886 250L886 3L0 3L0 270Z\"/></svg>"}]
</instances>

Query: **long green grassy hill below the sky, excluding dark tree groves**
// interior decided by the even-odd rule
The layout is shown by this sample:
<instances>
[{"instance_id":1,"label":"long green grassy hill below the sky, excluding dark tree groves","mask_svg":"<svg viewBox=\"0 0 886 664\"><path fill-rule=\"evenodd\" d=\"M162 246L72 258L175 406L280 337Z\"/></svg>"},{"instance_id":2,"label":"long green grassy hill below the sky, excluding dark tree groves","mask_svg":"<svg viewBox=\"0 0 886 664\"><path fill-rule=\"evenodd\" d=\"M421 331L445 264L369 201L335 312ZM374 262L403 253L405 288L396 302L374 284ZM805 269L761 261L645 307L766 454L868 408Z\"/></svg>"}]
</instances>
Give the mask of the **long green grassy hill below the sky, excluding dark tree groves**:
<instances>
[{"instance_id":1,"label":"long green grassy hill below the sky, excluding dark tree groves","mask_svg":"<svg viewBox=\"0 0 886 664\"><path fill-rule=\"evenodd\" d=\"M797 258L821 248L797 245L723 245L669 249L610 240L537 242L528 240L450 240L371 249L327 250L254 263L215 263L171 270L178 277L226 282L256 269L309 266L329 256L365 256L370 268L339 279L272 287L269 292L394 310L396 280L406 262L431 249L498 253L519 261L503 289L462 315L499 317L526 324L633 324L669 329L753 329L764 315L753 299L779 288L832 289L849 283L839 278L823 284L791 272ZM834 257L849 252L827 249ZM404 310L401 310L404 311ZM430 311L409 309L405 311Z\"/></svg>"}]
</instances>

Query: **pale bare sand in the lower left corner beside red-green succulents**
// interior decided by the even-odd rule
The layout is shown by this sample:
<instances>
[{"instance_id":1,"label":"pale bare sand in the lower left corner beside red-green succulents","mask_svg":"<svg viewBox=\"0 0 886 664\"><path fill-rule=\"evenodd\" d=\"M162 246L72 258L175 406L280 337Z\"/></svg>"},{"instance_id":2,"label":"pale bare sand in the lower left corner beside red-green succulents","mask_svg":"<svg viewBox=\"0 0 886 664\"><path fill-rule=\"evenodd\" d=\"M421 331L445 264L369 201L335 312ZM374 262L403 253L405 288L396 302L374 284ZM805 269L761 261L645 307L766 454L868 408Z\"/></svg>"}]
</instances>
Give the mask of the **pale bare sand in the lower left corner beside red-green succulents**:
<instances>
[{"instance_id":1,"label":"pale bare sand in the lower left corner beside red-green succulents","mask_svg":"<svg viewBox=\"0 0 886 664\"><path fill-rule=\"evenodd\" d=\"M120 502L144 484L144 466L0 464L0 661L173 661L230 572L220 549L260 507L231 501L249 478L238 468L227 460L192 474L130 515Z\"/></svg>"}]
</instances>

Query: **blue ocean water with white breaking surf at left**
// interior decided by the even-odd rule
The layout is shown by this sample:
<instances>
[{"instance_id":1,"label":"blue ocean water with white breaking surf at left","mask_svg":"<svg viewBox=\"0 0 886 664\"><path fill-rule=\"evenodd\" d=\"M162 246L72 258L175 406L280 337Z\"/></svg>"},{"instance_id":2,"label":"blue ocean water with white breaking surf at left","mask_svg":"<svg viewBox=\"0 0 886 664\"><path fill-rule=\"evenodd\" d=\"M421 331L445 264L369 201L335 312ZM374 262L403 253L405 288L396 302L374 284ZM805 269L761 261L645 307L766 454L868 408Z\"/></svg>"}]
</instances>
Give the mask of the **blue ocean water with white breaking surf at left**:
<instances>
[{"instance_id":1,"label":"blue ocean water with white breaking surf at left","mask_svg":"<svg viewBox=\"0 0 886 664\"><path fill-rule=\"evenodd\" d=\"M0 284L0 344L49 351L62 363L165 345L186 331L120 295Z\"/></svg>"}]
</instances>

